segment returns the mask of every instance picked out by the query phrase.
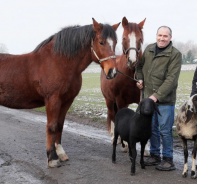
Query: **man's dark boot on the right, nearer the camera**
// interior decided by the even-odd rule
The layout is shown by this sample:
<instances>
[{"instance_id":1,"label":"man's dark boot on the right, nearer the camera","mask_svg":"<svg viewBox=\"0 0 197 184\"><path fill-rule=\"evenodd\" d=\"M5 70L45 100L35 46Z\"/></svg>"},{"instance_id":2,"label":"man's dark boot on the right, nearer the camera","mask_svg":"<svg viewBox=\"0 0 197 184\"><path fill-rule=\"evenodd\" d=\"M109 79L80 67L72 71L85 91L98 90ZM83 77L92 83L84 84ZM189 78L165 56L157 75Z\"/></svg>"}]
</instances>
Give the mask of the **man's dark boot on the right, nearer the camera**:
<instances>
[{"instance_id":1,"label":"man's dark boot on the right, nearer the camera","mask_svg":"<svg viewBox=\"0 0 197 184\"><path fill-rule=\"evenodd\" d=\"M173 159L169 157L163 157L161 163L158 164L155 168L160 171L171 171L176 169L173 163Z\"/></svg>"}]
</instances>

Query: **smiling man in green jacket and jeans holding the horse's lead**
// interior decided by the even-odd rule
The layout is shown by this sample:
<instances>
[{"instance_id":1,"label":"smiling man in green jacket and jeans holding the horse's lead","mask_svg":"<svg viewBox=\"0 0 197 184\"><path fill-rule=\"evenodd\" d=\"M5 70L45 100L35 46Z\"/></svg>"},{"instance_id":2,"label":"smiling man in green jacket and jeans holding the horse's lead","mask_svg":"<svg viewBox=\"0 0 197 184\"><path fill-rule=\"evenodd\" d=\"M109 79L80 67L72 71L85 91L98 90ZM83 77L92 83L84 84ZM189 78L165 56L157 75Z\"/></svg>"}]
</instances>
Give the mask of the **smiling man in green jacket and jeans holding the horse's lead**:
<instances>
[{"instance_id":1,"label":"smiling man in green jacket and jeans holding the horse's lead","mask_svg":"<svg viewBox=\"0 0 197 184\"><path fill-rule=\"evenodd\" d=\"M172 126L182 55L172 46L171 39L171 29L167 26L159 27L157 43L147 46L137 67L138 88L143 89L144 98L151 98L158 104L161 113L161 116L156 112L153 115L150 157L145 165L157 165L156 169L162 171L175 169Z\"/></svg>"}]
</instances>

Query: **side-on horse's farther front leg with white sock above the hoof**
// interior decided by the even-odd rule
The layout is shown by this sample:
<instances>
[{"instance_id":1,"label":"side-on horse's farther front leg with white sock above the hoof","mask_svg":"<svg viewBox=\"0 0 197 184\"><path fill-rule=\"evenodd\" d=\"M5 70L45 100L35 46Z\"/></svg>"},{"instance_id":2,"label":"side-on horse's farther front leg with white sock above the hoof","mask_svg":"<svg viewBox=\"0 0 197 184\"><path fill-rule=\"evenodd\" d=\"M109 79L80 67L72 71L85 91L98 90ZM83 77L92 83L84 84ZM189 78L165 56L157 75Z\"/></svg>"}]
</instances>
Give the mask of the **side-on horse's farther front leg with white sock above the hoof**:
<instances>
[{"instance_id":1,"label":"side-on horse's farther front leg with white sock above the hoof","mask_svg":"<svg viewBox=\"0 0 197 184\"><path fill-rule=\"evenodd\" d=\"M59 114L59 118L58 118L55 148L56 148L56 153L57 153L60 161L62 161L62 162L69 159L68 156L66 155L62 145L61 145L61 140L62 140L62 131L63 131L63 127L64 127L64 120L66 117L66 113L67 113L68 109L70 108L71 104L73 103L73 100L74 99L69 100L64 105L62 105L61 111Z\"/></svg>"}]
</instances>

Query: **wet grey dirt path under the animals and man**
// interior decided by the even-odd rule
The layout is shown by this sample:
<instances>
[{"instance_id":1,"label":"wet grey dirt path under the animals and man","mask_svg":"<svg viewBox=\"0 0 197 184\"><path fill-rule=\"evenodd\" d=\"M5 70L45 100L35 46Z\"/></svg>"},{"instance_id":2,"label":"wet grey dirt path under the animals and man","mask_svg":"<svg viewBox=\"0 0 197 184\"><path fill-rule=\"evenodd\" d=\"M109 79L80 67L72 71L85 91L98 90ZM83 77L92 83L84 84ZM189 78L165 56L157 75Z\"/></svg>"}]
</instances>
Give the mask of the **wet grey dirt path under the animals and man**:
<instances>
[{"instance_id":1,"label":"wet grey dirt path under the animals and man","mask_svg":"<svg viewBox=\"0 0 197 184\"><path fill-rule=\"evenodd\" d=\"M180 163L175 162L177 170L171 172L157 171L154 167L142 170L138 156L136 175L131 176L128 155L122 153L120 147L117 163L112 164L112 146L110 140L105 140L108 137L105 125L75 115L68 115L67 119L80 124L65 122L62 138L70 160L60 168L49 169L45 119L41 113L0 107L0 184L196 183L190 177L181 176L183 156L178 158ZM93 124L94 127L89 126ZM73 127L82 130L84 127L86 132L98 131L98 137L80 131L74 133Z\"/></svg>"}]
</instances>

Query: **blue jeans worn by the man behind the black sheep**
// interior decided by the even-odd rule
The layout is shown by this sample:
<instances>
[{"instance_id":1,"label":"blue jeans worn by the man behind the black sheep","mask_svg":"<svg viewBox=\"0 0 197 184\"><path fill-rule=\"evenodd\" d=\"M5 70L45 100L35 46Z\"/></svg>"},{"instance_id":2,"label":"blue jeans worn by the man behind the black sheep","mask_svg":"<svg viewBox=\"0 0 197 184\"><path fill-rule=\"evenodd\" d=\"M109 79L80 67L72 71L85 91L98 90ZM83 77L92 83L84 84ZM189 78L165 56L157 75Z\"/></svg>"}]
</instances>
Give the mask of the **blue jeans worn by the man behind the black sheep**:
<instances>
[{"instance_id":1,"label":"blue jeans worn by the man behind the black sheep","mask_svg":"<svg viewBox=\"0 0 197 184\"><path fill-rule=\"evenodd\" d=\"M172 126L174 124L173 105L159 105L160 116L156 111L152 118L152 136L150 138L150 153L160 155L162 140L162 155L173 158L173 135Z\"/></svg>"}]
</instances>

